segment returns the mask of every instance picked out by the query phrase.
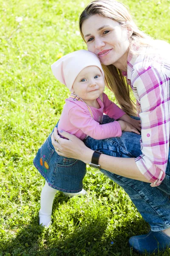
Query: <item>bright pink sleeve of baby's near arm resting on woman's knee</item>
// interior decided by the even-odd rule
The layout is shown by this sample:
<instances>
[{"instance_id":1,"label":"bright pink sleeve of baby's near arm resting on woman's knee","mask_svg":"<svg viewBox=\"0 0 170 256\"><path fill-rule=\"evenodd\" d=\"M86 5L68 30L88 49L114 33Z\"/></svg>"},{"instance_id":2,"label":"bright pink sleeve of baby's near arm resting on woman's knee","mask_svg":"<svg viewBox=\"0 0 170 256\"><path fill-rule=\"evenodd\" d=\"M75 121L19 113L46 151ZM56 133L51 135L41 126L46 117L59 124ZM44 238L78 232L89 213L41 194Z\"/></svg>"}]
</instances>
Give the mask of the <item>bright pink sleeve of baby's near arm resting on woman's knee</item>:
<instances>
[{"instance_id":1,"label":"bright pink sleeve of baby's near arm resting on woman's knee","mask_svg":"<svg viewBox=\"0 0 170 256\"><path fill-rule=\"evenodd\" d=\"M99 122L96 122L91 117L88 109L86 111L80 106L71 108L68 116L72 125L82 130L84 134L87 134L96 140L102 140L110 137L120 137L122 135L119 122L114 121L108 124L100 125Z\"/></svg>"}]
</instances>

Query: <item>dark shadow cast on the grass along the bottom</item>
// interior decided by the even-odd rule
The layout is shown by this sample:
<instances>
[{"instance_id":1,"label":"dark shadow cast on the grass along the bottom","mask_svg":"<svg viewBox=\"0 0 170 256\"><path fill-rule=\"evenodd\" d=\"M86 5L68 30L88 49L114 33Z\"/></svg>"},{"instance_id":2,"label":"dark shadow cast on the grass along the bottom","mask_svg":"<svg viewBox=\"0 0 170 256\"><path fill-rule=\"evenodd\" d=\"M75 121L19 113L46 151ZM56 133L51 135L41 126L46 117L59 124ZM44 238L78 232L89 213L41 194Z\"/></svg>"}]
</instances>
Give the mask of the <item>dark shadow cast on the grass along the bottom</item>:
<instances>
[{"instance_id":1,"label":"dark shadow cast on the grass along the bottom","mask_svg":"<svg viewBox=\"0 0 170 256\"><path fill-rule=\"evenodd\" d=\"M68 201L69 198L61 195L56 200L58 205ZM53 224L46 229L38 225L37 215L29 225L20 227L14 239L3 241L0 256L139 256L138 253L130 251L128 239L147 231L148 225L144 220L138 219L130 224L126 219L121 227L116 227L112 235L107 236L108 218L102 215L99 218L92 217L85 223L81 223L73 215L72 227L69 230L61 228L54 216ZM158 255L170 254L167 251Z\"/></svg>"}]
</instances>

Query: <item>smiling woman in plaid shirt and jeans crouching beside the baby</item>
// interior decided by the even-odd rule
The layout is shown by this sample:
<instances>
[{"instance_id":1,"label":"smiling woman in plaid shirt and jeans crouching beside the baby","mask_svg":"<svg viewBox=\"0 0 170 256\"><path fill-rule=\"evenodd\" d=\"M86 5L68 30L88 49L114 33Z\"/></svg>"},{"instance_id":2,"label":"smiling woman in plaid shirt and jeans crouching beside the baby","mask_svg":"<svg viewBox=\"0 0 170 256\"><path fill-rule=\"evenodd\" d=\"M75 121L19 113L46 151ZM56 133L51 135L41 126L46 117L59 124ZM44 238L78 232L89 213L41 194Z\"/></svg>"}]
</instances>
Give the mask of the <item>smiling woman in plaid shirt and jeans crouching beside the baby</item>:
<instances>
[{"instance_id":1,"label":"smiling woman in plaid shirt and jeans crouching beside the baby","mask_svg":"<svg viewBox=\"0 0 170 256\"><path fill-rule=\"evenodd\" d=\"M55 128L52 144L60 156L92 163L125 189L151 227L150 233L130 238L133 250L164 250L170 247L170 46L141 32L125 6L114 0L90 3L79 27L88 50L102 62L117 101L134 115L127 84L131 86L142 122L141 151L140 136L127 132L107 140L87 137L84 144L59 131L68 138L62 139ZM110 121L106 116L104 122Z\"/></svg>"}]
</instances>

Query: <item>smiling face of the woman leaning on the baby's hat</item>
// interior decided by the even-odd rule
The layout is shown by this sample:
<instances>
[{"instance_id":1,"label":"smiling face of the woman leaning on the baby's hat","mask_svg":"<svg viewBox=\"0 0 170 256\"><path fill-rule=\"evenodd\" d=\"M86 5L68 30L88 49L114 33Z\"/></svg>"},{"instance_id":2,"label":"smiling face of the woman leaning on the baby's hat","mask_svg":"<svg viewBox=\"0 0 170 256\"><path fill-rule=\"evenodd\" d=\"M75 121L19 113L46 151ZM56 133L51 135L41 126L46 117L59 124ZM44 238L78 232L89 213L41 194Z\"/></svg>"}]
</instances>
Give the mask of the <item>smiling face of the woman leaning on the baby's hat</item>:
<instances>
[{"instance_id":1,"label":"smiling face of the woman leaning on the baby's hat","mask_svg":"<svg viewBox=\"0 0 170 256\"><path fill-rule=\"evenodd\" d=\"M93 15L82 23L88 50L94 52L104 65L113 64L126 71L127 49L132 30L122 27L117 21Z\"/></svg>"}]
</instances>

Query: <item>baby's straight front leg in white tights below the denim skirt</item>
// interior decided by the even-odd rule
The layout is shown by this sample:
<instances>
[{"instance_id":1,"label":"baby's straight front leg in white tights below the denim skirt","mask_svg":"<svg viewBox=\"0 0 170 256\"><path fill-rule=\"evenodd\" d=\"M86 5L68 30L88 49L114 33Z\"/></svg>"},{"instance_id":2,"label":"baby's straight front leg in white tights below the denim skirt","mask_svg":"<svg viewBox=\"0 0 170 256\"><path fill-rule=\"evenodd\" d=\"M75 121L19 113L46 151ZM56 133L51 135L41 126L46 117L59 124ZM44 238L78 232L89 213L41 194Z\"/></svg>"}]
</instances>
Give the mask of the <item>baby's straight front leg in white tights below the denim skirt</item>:
<instances>
[{"instance_id":1,"label":"baby's straight front leg in white tights below the denim skirt","mask_svg":"<svg viewBox=\"0 0 170 256\"><path fill-rule=\"evenodd\" d=\"M48 227L51 224L51 212L56 192L57 189L51 188L45 181L45 186L41 192L41 208L39 212L39 224L42 224L42 226Z\"/></svg>"}]
</instances>

